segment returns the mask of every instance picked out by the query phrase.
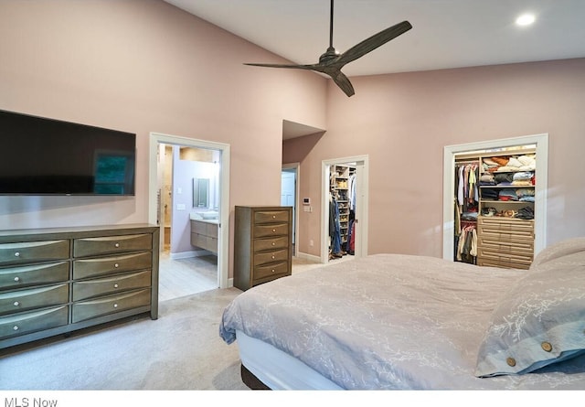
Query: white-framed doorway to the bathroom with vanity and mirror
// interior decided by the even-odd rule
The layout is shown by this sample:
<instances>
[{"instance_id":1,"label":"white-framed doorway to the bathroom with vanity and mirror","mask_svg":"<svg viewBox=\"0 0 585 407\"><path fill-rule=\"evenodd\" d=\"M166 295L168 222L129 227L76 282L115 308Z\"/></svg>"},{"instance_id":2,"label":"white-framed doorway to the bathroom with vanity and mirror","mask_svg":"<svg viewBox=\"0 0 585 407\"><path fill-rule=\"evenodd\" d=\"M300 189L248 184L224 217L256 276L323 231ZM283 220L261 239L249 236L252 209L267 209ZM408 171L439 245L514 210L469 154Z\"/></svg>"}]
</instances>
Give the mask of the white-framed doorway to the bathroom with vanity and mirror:
<instances>
[{"instance_id":1,"label":"white-framed doorway to the bathroom with vanity and mirror","mask_svg":"<svg viewBox=\"0 0 585 407\"><path fill-rule=\"evenodd\" d=\"M161 228L159 301L228 285L229 145L151 134L149 221Z\"/></svg>"}]
</instances>

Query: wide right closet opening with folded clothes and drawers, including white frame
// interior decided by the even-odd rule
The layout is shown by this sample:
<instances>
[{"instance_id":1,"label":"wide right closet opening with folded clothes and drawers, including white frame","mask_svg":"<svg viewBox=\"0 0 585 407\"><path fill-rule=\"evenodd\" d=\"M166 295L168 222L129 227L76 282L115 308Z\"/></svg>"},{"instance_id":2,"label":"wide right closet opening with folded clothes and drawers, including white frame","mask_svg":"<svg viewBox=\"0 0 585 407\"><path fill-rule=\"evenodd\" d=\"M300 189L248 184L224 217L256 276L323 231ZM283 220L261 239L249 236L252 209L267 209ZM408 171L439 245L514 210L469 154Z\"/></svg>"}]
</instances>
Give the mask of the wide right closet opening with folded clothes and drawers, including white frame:
<instances>
[{"instance_id":1,"label":"wide right closet opening with folded clothes and drawers, including white frame","mask_svg":"<svg viewBox=\"0 0 585 407\"><path fill-rule=\"evenodd\" d=\"M547 163L547 134L445 147L443 258L529 268L546 244Z\"/></svg>"}]
</instances>

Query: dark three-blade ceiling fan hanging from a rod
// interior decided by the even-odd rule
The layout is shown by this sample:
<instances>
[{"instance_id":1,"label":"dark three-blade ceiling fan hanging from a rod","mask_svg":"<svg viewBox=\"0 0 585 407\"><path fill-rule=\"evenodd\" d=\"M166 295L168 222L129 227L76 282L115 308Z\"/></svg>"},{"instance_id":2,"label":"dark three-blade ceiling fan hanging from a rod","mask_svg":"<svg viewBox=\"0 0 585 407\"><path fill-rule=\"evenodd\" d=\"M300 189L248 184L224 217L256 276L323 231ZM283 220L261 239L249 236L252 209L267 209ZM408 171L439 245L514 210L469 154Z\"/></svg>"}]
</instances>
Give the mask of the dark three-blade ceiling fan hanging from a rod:
<instances>
[{"instance_id":1,"label":"dark three-blade ceiling fan hanging from a rod","mask_svg":"<svg viewBox=\"0 0 585 407\"><path fill-rule=\"evenodd\" d=\"M331 20L329 26L329 48L325 51L321 57L319 57L319 63L309 65L287 65L287 64L259 64L259 63L245 63L244 65L251 65L254 67L268 67L268 68L291 68L297 70L315 70L329 75L332 80L335 81L337 86L346 93L347 96L353 96L356 92L349 79L341 71L341 69L351 61L363 57L368 52L381 47L386 44L390 39L396 38L401 34L404 34L412 26L408 21L402 21L401 23L388 27L385 30L380 31L378 34L368 37L354 47L349 48L346 52L339 54L333 47L333 3L331 0Z\"/></svg>"}]
</instances>

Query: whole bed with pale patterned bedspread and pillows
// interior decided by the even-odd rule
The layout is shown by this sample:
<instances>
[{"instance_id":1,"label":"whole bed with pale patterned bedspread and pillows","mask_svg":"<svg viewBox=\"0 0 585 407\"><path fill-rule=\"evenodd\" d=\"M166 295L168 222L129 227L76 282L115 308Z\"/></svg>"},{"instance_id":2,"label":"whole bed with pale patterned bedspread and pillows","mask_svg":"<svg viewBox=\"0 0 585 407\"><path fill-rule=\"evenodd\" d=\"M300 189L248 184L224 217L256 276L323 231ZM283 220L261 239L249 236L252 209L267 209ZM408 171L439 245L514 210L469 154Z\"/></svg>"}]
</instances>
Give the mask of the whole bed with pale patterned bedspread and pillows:
<instances>
[{"instance_id":1,"label":"whole bed with pale patterned bedspread and pillows","mask_svg":"<svg viewBox=\"0 0 585 407\"><path fill-rule=\"evenodd\" d=\"M272 390L585 390L585 238L530 270L375 254L238 295L219 335Z\"/></svg>"}]
</instances>

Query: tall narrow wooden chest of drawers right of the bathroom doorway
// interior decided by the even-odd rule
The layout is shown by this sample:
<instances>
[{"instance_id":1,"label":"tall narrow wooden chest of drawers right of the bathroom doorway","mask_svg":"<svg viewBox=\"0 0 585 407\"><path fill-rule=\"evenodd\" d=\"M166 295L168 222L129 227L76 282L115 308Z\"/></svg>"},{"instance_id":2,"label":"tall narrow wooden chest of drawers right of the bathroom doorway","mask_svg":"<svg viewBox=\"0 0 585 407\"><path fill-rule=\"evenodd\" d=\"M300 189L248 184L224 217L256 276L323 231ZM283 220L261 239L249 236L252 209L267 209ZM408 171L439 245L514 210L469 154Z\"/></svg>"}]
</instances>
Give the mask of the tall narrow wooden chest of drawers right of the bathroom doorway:
<instances>
[{"instance_id":1,"label":"tall narrow wooden chest of drawers right of the bathroom doorway","mask_svg":"<svg viewBox=\"0 0 585 407\"><path fill-rule=\"evenodd\" d=\"M235 209L234 286L248 290L291 275L293 267L293 208Z\"/></svg>"}]
</instances>

